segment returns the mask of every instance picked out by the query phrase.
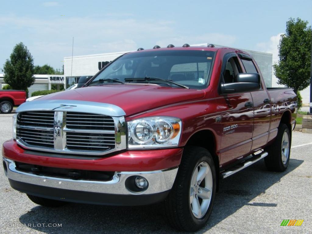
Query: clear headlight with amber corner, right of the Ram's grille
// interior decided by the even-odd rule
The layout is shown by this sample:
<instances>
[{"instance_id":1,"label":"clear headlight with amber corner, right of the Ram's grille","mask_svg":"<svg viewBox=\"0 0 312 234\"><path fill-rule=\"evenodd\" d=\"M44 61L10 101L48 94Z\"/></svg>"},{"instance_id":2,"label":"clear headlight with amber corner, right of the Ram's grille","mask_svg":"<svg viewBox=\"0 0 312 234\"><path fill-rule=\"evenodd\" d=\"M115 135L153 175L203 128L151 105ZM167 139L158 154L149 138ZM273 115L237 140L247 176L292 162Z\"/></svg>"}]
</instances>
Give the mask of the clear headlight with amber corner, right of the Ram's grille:
<instances>
[{"instance_id":1,"label":"clear headlight with amber corner, right of the Ram's grille","mask_svg":"<svg viewBox=\"0 0 312 234\"><path fill-rule=\"evenodd\" d=\"M179 144L182 121L173 117L147 117L128 123L128 149L166 148Z\"/></svg>"}]
</instances>

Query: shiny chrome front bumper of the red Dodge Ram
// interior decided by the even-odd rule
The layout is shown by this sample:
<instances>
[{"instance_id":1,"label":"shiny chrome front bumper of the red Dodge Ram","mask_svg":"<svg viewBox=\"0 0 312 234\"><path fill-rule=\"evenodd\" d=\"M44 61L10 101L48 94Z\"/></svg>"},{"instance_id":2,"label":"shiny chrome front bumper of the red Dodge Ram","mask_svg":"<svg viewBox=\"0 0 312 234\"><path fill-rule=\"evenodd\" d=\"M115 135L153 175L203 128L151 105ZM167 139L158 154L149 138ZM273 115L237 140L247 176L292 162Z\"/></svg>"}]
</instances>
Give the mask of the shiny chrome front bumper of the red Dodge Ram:
<instances>
[{"instance_id":1,"label":"shiny chrome front bumper of the red Dodge Ram","mask_svg":"<svg viewBox=\"0 0 312 234\"><path fill-rule=\"evenodd\" d=\"M149 172L115 172L113 179L110 181L73 180L22 172L16 169L13 160L3 158L3 161L7 166L7 178L13 181L56 189L117 195L139 196L141 194L148 195L168 191L172 188L178 172L178 168ZM130 192L125 187L125 180L135 175L143 176L149 182L149 187L142 193Z\"/></svg>"}]
</instances>

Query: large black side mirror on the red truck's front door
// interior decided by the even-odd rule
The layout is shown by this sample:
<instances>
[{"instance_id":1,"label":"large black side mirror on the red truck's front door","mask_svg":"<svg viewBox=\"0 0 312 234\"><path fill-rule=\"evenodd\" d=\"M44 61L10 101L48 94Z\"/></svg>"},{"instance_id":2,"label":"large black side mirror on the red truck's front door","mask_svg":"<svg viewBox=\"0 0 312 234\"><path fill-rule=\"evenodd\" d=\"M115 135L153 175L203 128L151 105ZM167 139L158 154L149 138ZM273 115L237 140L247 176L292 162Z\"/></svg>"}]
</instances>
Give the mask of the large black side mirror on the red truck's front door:
<instances>
[{"instance_id":1,"label":"large black side mirror on the red truck's front door","mask_svg":"<svg viewBox=\"0 0 312 234\"><path fill-rule=\"evenodd\" d=\"M240 73L234 83L221 84L222 93L247 92L260 89L260 75L258 73Z\"/></svg>"}]
</instances>

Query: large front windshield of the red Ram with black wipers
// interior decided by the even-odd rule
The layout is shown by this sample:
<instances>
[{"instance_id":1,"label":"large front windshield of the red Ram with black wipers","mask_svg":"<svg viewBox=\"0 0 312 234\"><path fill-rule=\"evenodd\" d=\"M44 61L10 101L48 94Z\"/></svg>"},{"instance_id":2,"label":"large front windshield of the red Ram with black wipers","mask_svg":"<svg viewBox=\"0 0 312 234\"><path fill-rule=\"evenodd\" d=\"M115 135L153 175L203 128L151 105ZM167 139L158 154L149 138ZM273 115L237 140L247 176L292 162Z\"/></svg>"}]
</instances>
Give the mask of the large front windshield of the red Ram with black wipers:
<instances>
[{"instance_id":1,"label":"large front windshield of the red Ram with black wipers","mask_svg":"<svg viewBox=\"0 0 312 234\"><path fill-rule=\"evenodd\" d=\"M140 51L121 56L104 68L90 85L125 83L154 83L165 87L202 89L212 68L214 51L165 50ZM144 79L154 77L160 79ZM103 80L103 82L94 82ZM115 80L115 82L113 81ZM174 82L165 82L171 80ZM94 82L94 83L93 83ZM87 85L89 85L87 84Z\"/></svg>"}]
</instances>

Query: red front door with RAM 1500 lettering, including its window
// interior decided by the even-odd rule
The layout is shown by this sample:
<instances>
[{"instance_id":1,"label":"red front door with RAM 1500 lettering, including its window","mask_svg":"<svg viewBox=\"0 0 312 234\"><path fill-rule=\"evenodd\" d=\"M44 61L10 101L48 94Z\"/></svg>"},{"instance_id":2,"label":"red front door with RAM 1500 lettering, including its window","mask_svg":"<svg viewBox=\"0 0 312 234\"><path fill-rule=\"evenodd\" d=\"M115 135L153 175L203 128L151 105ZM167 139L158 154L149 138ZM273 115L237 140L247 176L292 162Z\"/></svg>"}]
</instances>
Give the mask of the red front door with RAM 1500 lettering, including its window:
<instances>
[{"instance_id":1,"label":"red front door with RAM 1500 lettering, including its window","mask_svg":"<svg viewBox=\"0 0 312 234\"><path fill-rule=\"evenodd\" d=\"M236 82L242 73L236 53L224 56L221 68L221 83ZM226 166L248 154L252 145L253 104L250 92L220 94L216 99L221 110L220 164Z\"/></svg>"}]
</instances>

